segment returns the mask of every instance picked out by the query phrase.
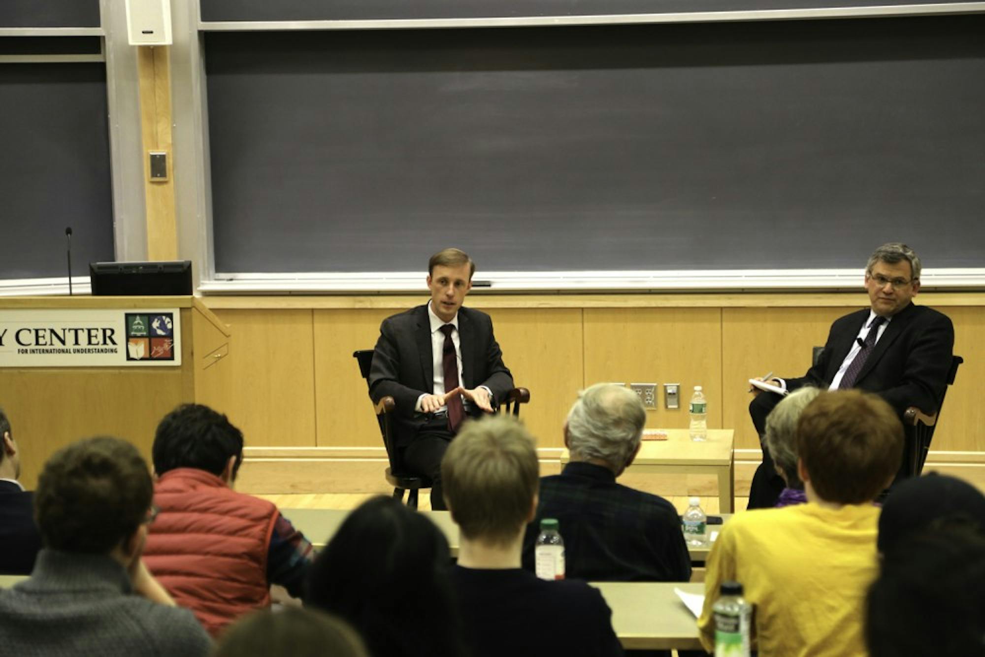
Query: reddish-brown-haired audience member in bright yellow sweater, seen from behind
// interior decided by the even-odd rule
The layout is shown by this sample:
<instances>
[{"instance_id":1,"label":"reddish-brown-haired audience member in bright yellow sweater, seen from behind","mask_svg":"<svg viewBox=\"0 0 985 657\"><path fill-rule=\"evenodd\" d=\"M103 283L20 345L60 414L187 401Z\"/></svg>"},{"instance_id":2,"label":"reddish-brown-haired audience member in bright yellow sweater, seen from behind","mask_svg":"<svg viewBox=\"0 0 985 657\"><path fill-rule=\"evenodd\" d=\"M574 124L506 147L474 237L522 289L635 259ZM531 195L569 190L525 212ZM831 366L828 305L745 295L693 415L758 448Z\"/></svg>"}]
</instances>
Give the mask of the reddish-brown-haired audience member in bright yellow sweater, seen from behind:
<instances>
[{"instance_id":1,"label":"reddish-brown-haired audience member in bright yellow sweater, seen from behind","mask_svg":"<svg viewBox=\"0 0 985 657\"><path fill-rule=\"evenodd\" d=\"M762 655L859 655L864 602L878 569L880 508L872 502L902 458L903 427L873 393L824 392L797 424L808 502L737 514L708 556L701 642L714 645L712 606L735 580L755 605Z\"/></svg>"}]
</instances>

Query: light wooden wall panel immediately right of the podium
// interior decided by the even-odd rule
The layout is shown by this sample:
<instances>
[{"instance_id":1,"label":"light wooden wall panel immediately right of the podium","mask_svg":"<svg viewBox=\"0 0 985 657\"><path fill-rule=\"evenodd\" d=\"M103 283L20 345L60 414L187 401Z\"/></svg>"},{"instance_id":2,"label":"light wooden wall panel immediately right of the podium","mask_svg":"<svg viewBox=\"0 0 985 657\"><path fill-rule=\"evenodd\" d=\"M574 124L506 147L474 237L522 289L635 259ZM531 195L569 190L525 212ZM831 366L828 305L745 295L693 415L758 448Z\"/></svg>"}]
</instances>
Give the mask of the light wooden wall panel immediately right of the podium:
<instances>
[{"instance_id":1,"label":"light wooden wall panel immediately right of the podium","mask_svg":"<svg viewBox=\"0 0 985 657\"><path fill-rule=\"evenodd\" d=\"M222 363L227 375L213 380L231 385L208 388L205 399L242 429L247 445L315 446L312 311L216 314L229 324L231 338Z\"/></svg>"}]
</instances>

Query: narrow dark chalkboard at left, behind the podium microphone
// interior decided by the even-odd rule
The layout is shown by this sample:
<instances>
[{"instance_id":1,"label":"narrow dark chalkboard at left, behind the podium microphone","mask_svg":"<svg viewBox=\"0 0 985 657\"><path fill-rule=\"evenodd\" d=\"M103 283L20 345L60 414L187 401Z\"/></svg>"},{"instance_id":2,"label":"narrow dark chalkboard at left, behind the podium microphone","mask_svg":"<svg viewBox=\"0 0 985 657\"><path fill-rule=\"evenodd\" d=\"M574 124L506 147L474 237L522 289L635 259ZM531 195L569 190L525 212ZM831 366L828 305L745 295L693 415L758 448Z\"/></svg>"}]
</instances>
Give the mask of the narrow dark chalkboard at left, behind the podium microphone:
<instances>
[{"instance_id":1,"label":"narrow dark chalkboard at left, behind the podium microphone","mask_svg":"<svg viewBox=\"0 0 985 657\"><path fill-rule=\"evenodd\" d=\"M113 259L106 76L101 62L0 64L0 279L64 277Z\"/></svg>"}]
</instances>

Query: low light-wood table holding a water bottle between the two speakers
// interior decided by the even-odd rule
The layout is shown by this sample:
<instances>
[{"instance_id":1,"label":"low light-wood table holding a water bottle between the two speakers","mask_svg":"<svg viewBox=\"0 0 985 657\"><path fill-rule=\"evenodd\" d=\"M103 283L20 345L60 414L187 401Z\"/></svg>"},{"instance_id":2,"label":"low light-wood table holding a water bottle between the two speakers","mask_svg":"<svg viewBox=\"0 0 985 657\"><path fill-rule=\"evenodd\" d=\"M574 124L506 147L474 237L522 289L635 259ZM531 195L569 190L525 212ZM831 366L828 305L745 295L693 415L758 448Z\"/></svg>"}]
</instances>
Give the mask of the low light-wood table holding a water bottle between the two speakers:
<instances>
[{"instance_id":1,"label":"low light-wood table holding a water bottle between the two speakers","mask_svg":"<svg viewBox=\"0 0 985 657\"><path fill-rule=\"evenodd\" d=\"M708 439L691 440L686 428L661 429L666 440L643 440L639 453L626 470L653 474L710 474L718 478L719 511L732 513L735 509L735 430L709 428ZM648 429L647 432L651 432ZM644 434L645 436L645 434ZM567 463L568 451L561 453L560 462Z\"/></svg>"}]
</instances>

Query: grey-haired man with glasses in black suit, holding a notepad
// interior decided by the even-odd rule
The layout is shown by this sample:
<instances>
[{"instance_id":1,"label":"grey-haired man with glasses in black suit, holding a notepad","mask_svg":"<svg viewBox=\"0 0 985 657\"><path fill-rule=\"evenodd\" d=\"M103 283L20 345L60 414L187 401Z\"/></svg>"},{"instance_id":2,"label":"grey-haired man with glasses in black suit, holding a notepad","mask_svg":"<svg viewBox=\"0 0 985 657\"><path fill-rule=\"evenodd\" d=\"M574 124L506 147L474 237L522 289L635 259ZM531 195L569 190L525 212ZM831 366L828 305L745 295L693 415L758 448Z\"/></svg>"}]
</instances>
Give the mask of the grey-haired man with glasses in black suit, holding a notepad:
<instances>
[{"instance_id":1,"label":"grey-haired man with glasses in black suit, holding a notepad","mask_svg":"<svg viewBox=\"0 0 985 657\"><path fill-rule=\"evenodd\" d=\"M920 291L920 258L905 244L880 246L866 265L865 288L871 307L835 320L817 364L800 378L775 382L785 390L861 388L883 397L900 416L909 406L936 413L948 386L954 327L947 315L912 303ZM761 442L766 416L781 397L754 391L750 415ZM749 508L773 506L782 490L763 446Z\"/></svg>"}]
</instances>

